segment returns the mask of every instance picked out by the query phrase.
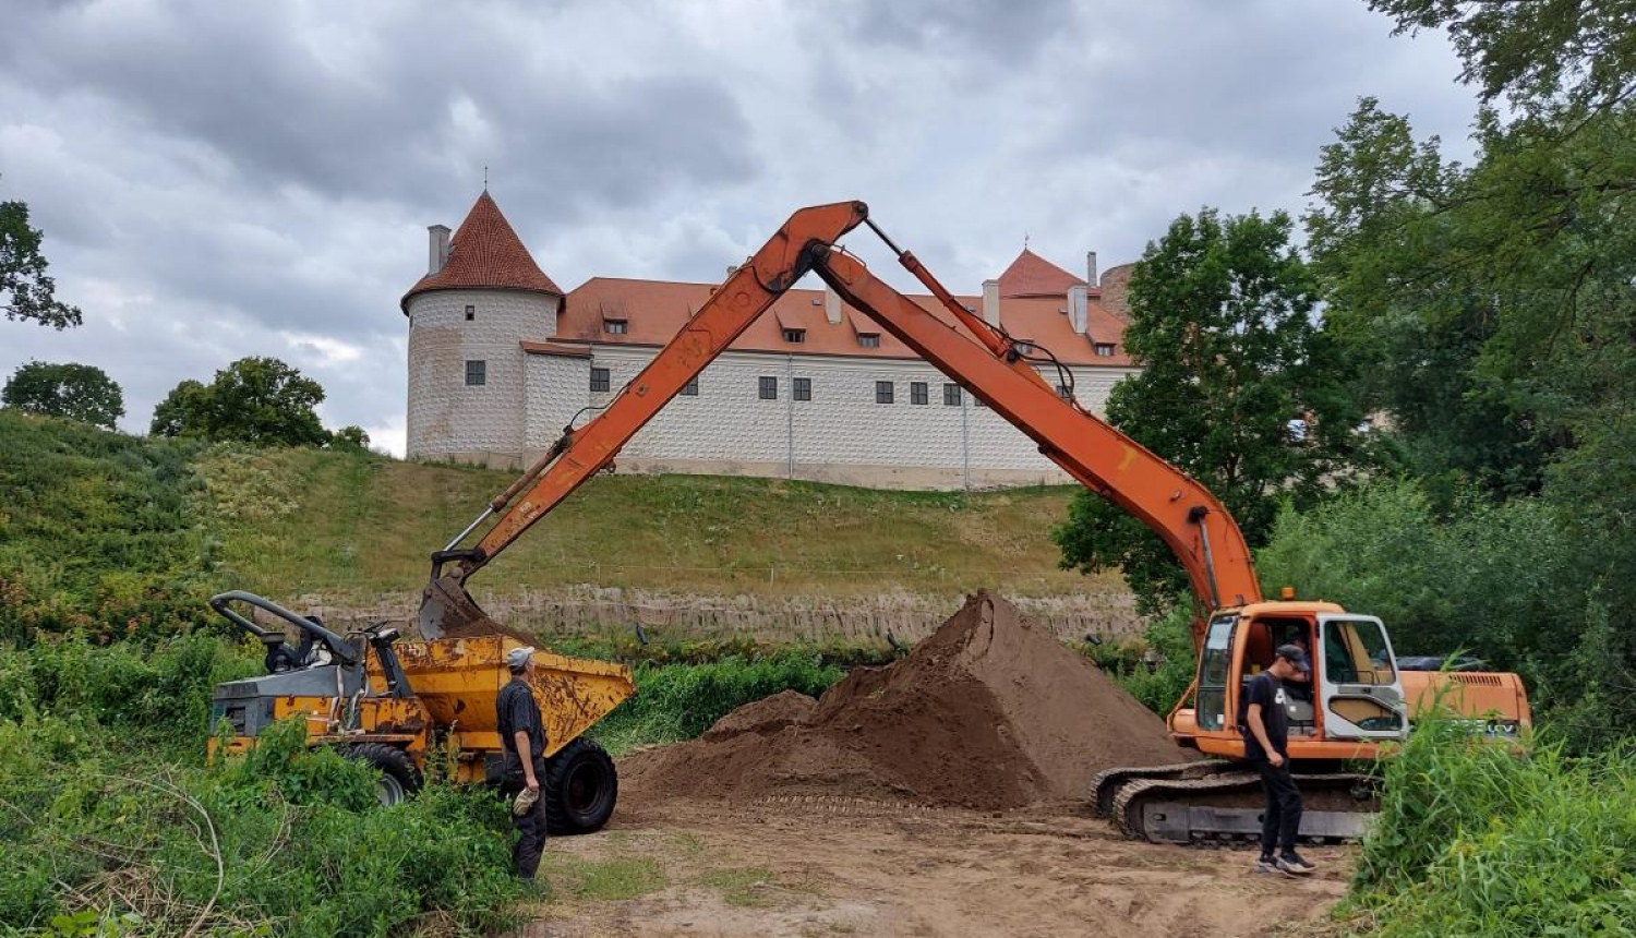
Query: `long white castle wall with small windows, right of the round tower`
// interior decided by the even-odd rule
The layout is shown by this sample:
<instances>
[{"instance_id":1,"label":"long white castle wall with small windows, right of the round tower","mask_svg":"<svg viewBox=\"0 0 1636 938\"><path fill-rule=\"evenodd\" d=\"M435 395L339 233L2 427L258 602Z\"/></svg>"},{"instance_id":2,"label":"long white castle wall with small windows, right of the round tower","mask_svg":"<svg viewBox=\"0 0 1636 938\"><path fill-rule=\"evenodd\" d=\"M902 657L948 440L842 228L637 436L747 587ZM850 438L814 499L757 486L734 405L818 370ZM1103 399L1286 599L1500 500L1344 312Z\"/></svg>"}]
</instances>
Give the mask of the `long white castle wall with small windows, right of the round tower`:
<instances>
[{"instance_id":1,"label":"long white castle wall with small windows, right of the round tower","mask_svg":"<svg viewBox=\"0 0 1636 938\"><path fill-rule=\"evenodd\" d=\"M581 408L605 406L654 349L594 345L592 359L530 355L527 457L548 449ZM609 368L609 391L592 393L591 368ZM1075 368L1078 399L1103 413L1108 391L1134 368ZM759 378L779 381L759 398ZM1055 383L1055 375L1045 375ZM793 378L811 380L811 401L793 399ZM875 381L893 403L875 403ZM928 385L913 404L910 385ZM924 362L728 352L677 396L620 453L622 471L697 471L789 476L887 488L960 488L1067 481L1032 440L960 395L942 403L941 372ZM584 424L581 417L576 426Z\"/></svg>"}]
</instances>

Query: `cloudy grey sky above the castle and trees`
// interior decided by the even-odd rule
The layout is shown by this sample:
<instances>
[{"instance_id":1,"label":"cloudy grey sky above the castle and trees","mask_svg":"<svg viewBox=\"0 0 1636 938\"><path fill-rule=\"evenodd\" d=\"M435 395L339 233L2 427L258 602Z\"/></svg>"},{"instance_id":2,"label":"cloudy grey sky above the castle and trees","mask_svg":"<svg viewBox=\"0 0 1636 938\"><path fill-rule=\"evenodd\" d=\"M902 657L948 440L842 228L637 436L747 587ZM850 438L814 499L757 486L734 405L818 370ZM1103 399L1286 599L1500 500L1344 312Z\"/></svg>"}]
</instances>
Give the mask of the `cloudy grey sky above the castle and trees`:
<instances>
[{"instance_id":1,"label":"cloudy grey sky above the castle and trees","mask_svg":"<svg viewBox=\"0 0 1636 938\"><path fill-rule=\"evenodd\" d=\"M1449 141L1472 111L1443 38L1363 0L0 0L0 200L85 311L0 321L0 375L100 365L142 432L177 381L276 355L393 452L398 300L484 167L569 290L718 280L793 208L862 198L977 291L1024 236L1078 270L1201 205L1299 211L1360 95Z\"/></svg>"}]
</instances>

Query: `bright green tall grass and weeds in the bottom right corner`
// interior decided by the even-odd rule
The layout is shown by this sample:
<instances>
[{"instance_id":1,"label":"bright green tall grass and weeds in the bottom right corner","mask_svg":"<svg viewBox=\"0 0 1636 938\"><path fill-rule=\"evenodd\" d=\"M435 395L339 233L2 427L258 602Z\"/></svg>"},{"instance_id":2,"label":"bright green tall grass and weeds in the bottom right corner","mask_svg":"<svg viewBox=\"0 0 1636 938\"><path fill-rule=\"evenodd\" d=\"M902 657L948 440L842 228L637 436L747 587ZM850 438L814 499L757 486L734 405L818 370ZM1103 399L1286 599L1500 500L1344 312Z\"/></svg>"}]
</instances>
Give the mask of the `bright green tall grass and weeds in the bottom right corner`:
<instances>
[{"instance_id":1,"label":"bright green tall grass and weeds in the bottom right corner","mask_svg":"<svg viewBox=\"0 0 1636 938\"><path fill-rule=\"evenodd\" d=\"M1353 877L1371 935L1636 935L1636 755L1521 755L1427 719L1384 776Z\"/></svg>"}]
</instances>

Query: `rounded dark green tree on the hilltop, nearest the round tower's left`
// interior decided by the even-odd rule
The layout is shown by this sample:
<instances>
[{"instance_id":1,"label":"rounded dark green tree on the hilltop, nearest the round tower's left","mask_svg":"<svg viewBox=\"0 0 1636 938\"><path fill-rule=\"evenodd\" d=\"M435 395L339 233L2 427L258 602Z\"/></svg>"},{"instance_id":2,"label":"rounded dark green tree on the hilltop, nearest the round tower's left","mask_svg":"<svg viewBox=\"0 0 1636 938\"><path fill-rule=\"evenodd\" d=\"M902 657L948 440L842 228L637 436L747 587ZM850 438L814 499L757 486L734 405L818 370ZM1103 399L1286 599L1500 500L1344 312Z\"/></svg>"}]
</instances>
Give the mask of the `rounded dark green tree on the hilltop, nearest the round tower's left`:
<instances>
[{"instance_id":1,"label":"rounded dark green tree on the hilltop, nearest the round tower's left","mask_svg":"<svg viewBox=\"0 0 1636 938\"><path fill-rule=\"evenodd\" d=\"M151 432L165 437L324 445L314 408L324 388L278 359L239 359L209 385L187 380L154 408Z\"/></svg>"}]
</instances>

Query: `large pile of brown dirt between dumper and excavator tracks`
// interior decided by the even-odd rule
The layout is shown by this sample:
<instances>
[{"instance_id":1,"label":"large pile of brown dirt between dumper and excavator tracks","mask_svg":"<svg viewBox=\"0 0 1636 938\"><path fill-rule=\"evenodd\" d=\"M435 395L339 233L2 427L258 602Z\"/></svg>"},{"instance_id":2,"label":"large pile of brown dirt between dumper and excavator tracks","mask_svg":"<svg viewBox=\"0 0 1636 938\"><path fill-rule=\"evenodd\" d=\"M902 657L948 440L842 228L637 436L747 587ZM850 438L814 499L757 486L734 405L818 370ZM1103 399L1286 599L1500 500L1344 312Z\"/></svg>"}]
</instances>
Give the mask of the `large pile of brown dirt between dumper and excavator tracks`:
<instances>
[{"instance_id":1,"label":"large pile of brown dirt between dumper and excavator tracks","mask_svg":"<svg viewBox=\"0 0 1636 938\"><path fill-rule=\"evenodd\" d=\"M1083 799L1109 766L1184 758L1096 666L978 591L908 658L856 670L816 704L785 692L739 707L697 742L627 760L622 787L1008 809Z\"/></svg>"}]
</instances>

